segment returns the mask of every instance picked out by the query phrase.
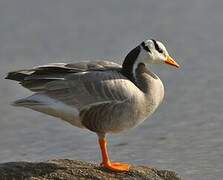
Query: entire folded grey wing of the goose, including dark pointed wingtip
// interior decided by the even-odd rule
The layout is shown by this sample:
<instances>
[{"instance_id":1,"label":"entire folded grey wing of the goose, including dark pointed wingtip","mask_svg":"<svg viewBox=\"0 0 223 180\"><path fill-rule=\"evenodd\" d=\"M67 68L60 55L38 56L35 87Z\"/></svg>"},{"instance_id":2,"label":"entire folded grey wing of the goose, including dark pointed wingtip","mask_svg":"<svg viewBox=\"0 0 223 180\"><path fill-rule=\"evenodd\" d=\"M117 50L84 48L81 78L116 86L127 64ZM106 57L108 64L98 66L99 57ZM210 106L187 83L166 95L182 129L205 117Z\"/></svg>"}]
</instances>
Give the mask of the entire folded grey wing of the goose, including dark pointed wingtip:
<instances>
[{"instance_id":1,"label":"entire folded grey wing of the goose, including dark pointed wingtip","mask_svg":"<svg viewBox=\"0 0 223 180\"><path fill-rule=\"evenodd\" d=\"M10 72L6 79L78 109L131 99L140 93L121 74L121 66L109 61L48 64Z\"/></svg>"}]
</instances>

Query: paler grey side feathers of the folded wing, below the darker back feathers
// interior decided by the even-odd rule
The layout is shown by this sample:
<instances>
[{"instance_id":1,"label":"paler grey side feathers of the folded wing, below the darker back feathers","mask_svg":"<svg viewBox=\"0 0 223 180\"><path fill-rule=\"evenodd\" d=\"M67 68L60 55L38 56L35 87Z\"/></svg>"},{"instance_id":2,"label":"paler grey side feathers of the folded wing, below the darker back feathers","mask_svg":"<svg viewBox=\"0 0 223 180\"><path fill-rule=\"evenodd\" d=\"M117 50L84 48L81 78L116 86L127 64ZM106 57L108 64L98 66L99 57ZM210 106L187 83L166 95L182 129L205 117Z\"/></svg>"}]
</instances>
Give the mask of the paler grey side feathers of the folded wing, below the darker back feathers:
<instances>
[{"instance_id":1,"label":"paler grey side feathers of the folded wing, below the darker back feathers","mask_svg":"<svg viewBox=\"0 0 223 180\"><path fill-rule=\"evenodd\" d=\"M107 70L69 74L64 80L49 82L43 93L82 109L114 101L122 102L141 92L119 71Z\"/></svg>"}]
</instances>

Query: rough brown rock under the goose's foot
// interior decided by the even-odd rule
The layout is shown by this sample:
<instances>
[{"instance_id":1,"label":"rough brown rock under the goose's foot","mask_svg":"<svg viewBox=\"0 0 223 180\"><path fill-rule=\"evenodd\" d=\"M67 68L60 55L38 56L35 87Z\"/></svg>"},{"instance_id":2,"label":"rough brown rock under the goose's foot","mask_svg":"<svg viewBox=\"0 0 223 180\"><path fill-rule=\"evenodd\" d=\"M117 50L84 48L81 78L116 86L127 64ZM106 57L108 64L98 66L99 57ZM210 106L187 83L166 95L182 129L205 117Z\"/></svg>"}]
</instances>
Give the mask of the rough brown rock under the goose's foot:
<instances>
[{"instance_id":1,"label":"rough brown rock under the goose's foot","mask_svg":"<svg viewBox=\"0 0 223 180\"><path fill-rule=\"evenodd\" d=\"M47 162L9 162L0 164L0 180L12 179L180 180L180 177L175 172L157 170L148 166L131 166L129 172L118 173L88 162L58 159Z\"/></svg>"}]
</instances>

